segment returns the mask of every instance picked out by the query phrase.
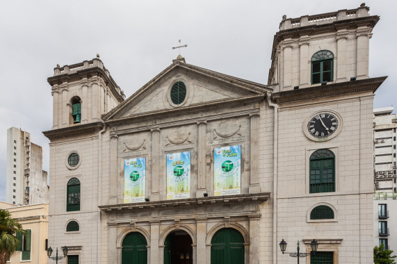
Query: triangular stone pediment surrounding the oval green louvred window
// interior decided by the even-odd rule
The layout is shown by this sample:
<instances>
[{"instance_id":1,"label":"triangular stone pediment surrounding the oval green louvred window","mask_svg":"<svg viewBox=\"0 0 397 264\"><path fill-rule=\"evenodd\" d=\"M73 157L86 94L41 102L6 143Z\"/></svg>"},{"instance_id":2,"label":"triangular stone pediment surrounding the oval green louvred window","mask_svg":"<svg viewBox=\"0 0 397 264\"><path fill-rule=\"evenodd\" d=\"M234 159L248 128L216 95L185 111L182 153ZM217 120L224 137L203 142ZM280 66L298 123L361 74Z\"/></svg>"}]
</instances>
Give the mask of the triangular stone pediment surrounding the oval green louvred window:
<instances>
[{"instance_id":1,"label":"triangular stone pediment surrounding the oval green louvred window","mask_svg":"<svg viewBox=\"0 0 397 264\"><path fill-rule=\"evenodd\" d=\"M170 93L176 82L186 85L186 99L172 102ZM105 120L163 112L176 108L216 104L227 100L254 97L270 92L265 85L227 76L208 69L175 62L126 101L104 116Z\"/></svg>"}]
</instances>

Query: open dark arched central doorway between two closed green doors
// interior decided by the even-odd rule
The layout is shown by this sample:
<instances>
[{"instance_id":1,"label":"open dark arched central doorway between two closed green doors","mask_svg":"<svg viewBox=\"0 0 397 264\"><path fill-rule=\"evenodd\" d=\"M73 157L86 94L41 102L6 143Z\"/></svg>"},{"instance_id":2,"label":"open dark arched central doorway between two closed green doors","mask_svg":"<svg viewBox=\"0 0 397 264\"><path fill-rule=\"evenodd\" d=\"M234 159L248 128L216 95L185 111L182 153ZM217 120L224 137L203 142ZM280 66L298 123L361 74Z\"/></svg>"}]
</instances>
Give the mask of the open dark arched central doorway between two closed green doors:
<instances>
[{"instance_id":1,"label":"open dark arched central doorway between two closed green doors","mask_svg":"<svg viewBox=\"0 0 397 264\"><path fill-rule=\"evenodd\" d=\"M193 264L192 244L186 231L171 232L164 241L164 264Z\"/></svg>"}]
</instances>

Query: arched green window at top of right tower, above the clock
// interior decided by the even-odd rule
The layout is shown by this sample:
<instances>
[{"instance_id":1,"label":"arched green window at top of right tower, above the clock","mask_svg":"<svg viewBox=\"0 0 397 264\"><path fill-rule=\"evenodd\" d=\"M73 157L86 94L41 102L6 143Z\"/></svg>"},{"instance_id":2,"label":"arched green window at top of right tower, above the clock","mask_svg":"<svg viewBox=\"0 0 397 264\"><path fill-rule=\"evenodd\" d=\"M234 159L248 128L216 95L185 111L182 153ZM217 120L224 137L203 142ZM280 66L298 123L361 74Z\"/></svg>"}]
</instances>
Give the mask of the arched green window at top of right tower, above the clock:
<instances>
[{"instance_id":1,"label":"arched green window at top of right tower, above the clock","mask_svg":"<svg viewBox=\"0 0 397 264\"><path fill-rule=\"evenodd\" d=\"M334 53L317 51L311 56L311 84L334 80Z\"/></svg>"}]
</instances>

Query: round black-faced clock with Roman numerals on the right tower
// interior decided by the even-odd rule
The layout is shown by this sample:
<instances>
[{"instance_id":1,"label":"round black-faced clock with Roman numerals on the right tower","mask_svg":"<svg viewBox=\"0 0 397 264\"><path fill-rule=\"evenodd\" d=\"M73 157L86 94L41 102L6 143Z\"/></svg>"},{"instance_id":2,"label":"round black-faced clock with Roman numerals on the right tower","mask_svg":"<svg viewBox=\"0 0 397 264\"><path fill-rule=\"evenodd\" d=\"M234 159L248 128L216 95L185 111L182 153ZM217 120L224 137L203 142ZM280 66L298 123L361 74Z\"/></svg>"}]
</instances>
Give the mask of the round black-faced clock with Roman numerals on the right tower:
<instances>
[{"instance_id":1,"label":"round black-faced clock with Roman numerals on the right tower","mask_svg":"<svg viewBox=\"0 0 397 264\"><path fill-rule=\"evenodd\" d=\"M311 114L303 124L307 138L326 141L336 137L342 128L341 116L332 110L320 110Z\"/></svg>"}]
</instances>

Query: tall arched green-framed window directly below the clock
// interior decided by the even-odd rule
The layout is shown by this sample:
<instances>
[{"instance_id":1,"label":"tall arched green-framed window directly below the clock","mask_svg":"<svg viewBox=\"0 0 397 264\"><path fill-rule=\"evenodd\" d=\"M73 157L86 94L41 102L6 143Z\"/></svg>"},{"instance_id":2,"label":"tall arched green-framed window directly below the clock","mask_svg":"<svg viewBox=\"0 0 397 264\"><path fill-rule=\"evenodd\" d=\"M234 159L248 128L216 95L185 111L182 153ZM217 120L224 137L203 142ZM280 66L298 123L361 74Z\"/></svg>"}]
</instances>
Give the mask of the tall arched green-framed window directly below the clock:
<instances>
[{"instance_id":1,"label":"tall arched green-framed window directly below the clock","mask_svg":"<svg viewBox=\"0 0 397 264\"><path fill-rule=\"evenodd\" d=\"M318 149L309 160L309 191L335 191L335 155L330 149Z\"/></svg>"}]
</instances>

